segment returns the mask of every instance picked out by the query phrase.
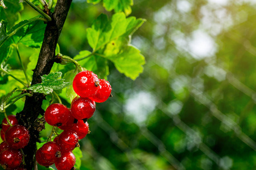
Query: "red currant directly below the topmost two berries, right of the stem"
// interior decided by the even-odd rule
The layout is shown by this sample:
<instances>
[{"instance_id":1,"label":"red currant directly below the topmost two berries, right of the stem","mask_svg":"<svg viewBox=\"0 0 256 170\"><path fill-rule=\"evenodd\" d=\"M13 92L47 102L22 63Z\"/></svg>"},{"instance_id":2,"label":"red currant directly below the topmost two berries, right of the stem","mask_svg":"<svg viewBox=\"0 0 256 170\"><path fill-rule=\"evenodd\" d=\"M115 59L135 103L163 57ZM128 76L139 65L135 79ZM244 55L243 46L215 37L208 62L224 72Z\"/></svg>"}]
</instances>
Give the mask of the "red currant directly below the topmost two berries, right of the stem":
<instances>
[{"instance_id":1,"label":"red currant directly below the topmost two berries, right of the stem","mask_svg":"<svg viewBox=\"0 0 256 170\"><path fill-rule=\"evenodd\" d=\"M71 107L72 116L75 117L77 120L92 117L95 110L95 103L92 100L83 97L80 97L79 99L74 101Z\"/></svg>"}]
</instances>

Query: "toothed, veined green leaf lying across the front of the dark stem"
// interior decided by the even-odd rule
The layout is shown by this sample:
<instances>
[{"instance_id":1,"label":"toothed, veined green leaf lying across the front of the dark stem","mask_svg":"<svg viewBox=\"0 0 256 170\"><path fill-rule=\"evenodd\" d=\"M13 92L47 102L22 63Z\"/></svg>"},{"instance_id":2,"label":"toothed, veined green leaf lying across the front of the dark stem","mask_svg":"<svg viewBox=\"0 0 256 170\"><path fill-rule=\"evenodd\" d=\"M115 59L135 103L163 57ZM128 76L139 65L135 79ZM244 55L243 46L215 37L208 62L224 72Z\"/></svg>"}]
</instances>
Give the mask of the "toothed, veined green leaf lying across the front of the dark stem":
<instances>
[{"instance_id":1,"label":"toothed, veined green leaf lying across the front of the dark stem","mask_svg":"<svg viewBox=\"0 0 256 170\"><path fill-rule=\"evenodd\" d=\"M39 92L47 95L51 93L53 90L61 90L65 87L70 86L72 83L64 82L64 79L58 79L61 75L61 72L43 75L41 76L42 83L34 84L33 86L28 87L28 90L32 90L34 92Z\"/></svg>"}]
</instances>

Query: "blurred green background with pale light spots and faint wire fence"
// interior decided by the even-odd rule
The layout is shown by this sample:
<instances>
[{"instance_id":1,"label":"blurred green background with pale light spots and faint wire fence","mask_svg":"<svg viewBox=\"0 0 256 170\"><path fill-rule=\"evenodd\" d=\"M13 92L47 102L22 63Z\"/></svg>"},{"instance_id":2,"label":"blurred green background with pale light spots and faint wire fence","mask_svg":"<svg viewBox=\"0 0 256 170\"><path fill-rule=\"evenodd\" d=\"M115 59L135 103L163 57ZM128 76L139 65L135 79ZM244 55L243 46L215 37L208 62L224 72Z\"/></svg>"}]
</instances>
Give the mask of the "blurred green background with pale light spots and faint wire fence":
<instances>
[{"instance_id":1,"label":"blurred green background with pale light spots and faint wire fence","mask_svg":"<svg viewBox=\"0 0 256 170\"><path fill-rule=\"evenodd\" d=\"M256 2L134 0L132 10L147 19L131 41L146 65L133 81L109 62L113 97L88 121L80 169L256 169ZM102 12L113 14L73 0L60 52L91 50L86 28ZM35 15L24 5L19 17ZM32 49L19 48L26 65Z\"/></svg>"}]
</instances>

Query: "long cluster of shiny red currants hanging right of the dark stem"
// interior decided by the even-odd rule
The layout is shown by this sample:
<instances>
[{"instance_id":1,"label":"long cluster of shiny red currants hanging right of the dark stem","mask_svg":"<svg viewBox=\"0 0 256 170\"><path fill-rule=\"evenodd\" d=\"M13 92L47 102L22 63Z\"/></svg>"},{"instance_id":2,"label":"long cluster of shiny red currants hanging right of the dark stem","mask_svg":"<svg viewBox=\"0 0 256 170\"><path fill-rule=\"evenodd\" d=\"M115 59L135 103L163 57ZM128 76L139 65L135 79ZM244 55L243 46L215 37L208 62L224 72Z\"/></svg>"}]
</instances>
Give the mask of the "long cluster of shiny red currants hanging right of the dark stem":
<instances>
[{"instance_id":1,"label":"long cluster of shiny red currants hanging right of the dark stem","mask_svg":"<svg viewBox=\"0 0 256 170\"><path fill-rule=\"evenodd\" d=\"M105 79L98 79L92 71L81 71L73 80L73 89L80 97L75 97L71 109L63 104L51 104L44 117L49 125L64 130L53 142L45 143L36 152L40 165L55 163L57 169L72 169L76 158L72 151L79 147L79 140L89 131L87 120L93 116L96 103L104 102L111 94L112 88Z\"/></svg>"}]
</instances>

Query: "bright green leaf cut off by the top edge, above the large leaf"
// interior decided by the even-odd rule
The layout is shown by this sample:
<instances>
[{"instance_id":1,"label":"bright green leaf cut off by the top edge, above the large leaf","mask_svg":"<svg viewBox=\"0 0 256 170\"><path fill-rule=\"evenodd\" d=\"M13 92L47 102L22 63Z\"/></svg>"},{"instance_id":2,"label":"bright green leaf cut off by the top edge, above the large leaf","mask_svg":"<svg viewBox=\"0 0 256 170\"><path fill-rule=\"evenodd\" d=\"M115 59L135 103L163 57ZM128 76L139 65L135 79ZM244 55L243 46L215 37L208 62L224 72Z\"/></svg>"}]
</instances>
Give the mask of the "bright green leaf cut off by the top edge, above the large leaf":
<instances>
[{"instance_id":1,"label":"bright green leaf cut off by the top edge, above the large leaf","mask_svg":"<svg viewBox=\"0 0 256 170\"><path fill-rule=\"evenodd\" d=\"M101 0L88 0L88 3L97 4ZM103 6L107 11L125 12L126 15L131 14L131 6L133 0L103 0Z\"/></svg>"}]
</instances>

